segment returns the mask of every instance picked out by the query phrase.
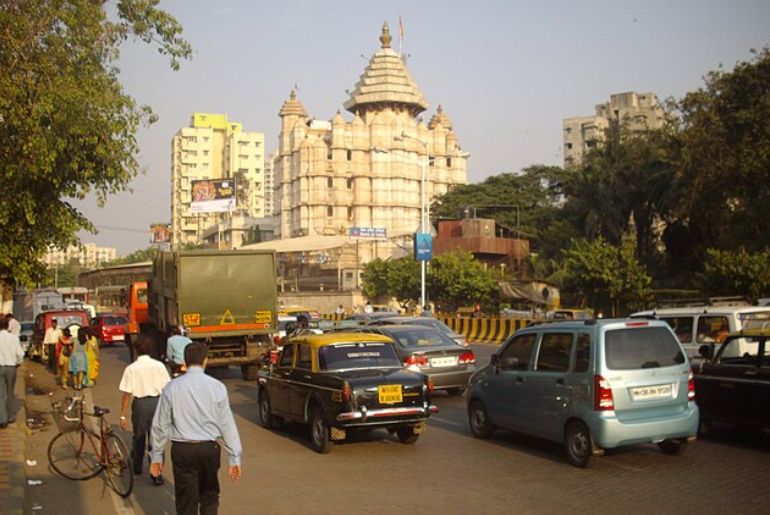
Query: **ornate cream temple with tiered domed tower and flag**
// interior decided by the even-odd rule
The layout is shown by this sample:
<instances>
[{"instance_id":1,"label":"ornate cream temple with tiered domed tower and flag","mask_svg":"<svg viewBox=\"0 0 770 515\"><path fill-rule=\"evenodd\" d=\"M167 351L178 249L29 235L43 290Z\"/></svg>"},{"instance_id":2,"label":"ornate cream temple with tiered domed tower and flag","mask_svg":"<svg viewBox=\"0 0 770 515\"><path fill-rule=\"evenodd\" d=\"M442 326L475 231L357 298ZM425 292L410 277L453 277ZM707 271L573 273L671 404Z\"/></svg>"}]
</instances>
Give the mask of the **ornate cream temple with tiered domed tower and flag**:
<instances>
[{"instance_id":1,"label":"ornate cream temple with tiered domed tower and flag","mask_svg":"<svg viewBox=\"0 0 770 515\"><path fill-rule=\"evenodd\" d=\"M469 154L441 106L427 125L422 121L428 102L391 49L387 24L380 43L344 103L352 121L339 111L330 121L316 120L295 91L281 107L274 161L281 238L341 235L351 227L412 234L420 226L423 184L427 204L467 182ZM388 255L387 245L379 255Z\"/></svg>"}]
</instances>

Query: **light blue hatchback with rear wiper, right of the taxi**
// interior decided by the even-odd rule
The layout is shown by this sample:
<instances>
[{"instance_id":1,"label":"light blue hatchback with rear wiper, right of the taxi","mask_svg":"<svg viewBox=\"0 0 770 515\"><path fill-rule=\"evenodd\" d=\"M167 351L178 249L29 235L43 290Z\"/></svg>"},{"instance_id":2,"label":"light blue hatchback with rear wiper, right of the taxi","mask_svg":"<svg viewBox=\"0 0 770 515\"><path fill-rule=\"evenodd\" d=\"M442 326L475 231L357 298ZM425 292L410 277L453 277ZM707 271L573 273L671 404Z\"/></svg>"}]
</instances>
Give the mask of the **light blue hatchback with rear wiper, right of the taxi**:
<instances>
[{"instance_id":1,"label":"light blue hatchback with rear wiper, right of the taxi","mask_svg":"<svg viewBox=\"0 0 770 515\"><path fill-rule=\"evenodd\" d=\"M560 442L578 467L623 445L680 454L698 430L690 363L656 320L522 329L471 377L467 407L477 438L501 428Z\"/></svg>"}]
</instances>

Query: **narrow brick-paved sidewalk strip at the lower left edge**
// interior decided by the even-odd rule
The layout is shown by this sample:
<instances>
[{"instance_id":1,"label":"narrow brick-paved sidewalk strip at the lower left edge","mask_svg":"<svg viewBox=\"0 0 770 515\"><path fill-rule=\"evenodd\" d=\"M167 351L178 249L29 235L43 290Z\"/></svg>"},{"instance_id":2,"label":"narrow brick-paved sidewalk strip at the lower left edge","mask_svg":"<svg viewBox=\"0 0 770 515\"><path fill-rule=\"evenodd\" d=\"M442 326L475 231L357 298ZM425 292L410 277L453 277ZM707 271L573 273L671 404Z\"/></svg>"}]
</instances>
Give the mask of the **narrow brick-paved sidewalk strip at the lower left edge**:
<instances>
[{"instance_id":1,"label":"narrow brick-paved sidewalk strip at the lower left edge","mask_svg":"<svg viewBox=\"0 0 770 515\"><path fill-rule=\"evenodd\" d=\"M16 371L16 422L0 429L0 498L4 514L20 514L24 510L26 475L24 455L27 441L27 415L24 406L26 362Z\"/></svg>"}]
</instances>

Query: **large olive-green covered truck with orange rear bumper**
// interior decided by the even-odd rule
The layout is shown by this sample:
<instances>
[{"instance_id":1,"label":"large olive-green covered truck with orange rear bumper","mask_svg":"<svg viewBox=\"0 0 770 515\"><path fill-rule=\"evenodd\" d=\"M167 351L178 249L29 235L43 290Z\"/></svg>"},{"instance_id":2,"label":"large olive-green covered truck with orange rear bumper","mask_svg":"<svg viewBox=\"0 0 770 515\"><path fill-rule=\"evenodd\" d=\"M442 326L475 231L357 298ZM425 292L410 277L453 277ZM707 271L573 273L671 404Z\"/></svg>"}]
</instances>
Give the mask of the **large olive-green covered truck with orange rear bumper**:
<instances>
[{"instance_id":1,"label":"large olive-green covered truck with orange rear bumper","mask_svg":"<svg viewBox=\"0 0 770 515\"><path fill-rule=\"evenodd\" d=\"M241 367L254 380L276 332L276 260L273 251L159 252L148 280L147 322L153 355L165 354L174 326L209 347L208 366ZM127 341L134 359L133 338Z\"/></svg>"}]
</instances>

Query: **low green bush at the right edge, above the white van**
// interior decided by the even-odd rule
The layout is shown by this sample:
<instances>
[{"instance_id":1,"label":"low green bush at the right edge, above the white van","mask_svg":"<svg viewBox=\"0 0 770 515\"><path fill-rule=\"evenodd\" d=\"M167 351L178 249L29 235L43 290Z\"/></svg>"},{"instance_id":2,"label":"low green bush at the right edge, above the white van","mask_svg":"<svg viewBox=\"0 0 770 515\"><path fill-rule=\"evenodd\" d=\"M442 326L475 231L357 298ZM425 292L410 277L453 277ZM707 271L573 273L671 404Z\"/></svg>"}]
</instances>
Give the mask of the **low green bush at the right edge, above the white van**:
<instances>
[{"instance_id":1,"label":"low green bush at the right edge, above the white van","mask_svg":"<svg viewBox=\"0 0 770 515\"><path fill-rule=\"evenodd\" d=\"M711 295L748 295L756 300L770 293L770 250L749 253L706 250L702 287Z\"/></svg>"}]
</instances>

